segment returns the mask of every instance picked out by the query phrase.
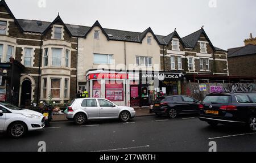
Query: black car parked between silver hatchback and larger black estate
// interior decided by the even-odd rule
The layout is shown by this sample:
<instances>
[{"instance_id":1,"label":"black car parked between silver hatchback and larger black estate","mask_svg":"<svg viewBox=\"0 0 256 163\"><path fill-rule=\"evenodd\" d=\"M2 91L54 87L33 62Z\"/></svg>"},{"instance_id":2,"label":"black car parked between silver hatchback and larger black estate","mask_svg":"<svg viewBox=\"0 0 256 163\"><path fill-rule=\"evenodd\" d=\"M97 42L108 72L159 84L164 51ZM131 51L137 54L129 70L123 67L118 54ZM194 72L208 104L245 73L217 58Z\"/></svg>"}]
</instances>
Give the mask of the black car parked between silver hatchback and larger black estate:
<instances>
[{"instance_id":1,"label":"black car parked between silver hatchback and larger black estate","mask_svg":"<svg viewBox=\"0 0 256 163\"><path fill-rule=\"evenodd\" d=\"M156 101L152 112L156 115L168 115L176 118L178 114L199 114L200 101L189 96L168 96L161 101Z\"/></svg>"}]
</instances>

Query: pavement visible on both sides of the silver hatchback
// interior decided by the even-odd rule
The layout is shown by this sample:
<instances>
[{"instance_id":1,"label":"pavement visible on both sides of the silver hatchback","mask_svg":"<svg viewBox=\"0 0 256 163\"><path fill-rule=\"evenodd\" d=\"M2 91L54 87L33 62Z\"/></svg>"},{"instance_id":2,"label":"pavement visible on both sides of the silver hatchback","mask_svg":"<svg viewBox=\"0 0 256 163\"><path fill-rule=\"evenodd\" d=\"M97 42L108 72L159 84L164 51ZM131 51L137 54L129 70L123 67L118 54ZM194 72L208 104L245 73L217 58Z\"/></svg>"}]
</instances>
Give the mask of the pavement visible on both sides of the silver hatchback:
<instances>
[{"instance_id":1,"label":"pavement visible on both sides of the silver hatchback","mask_svg":"<svg viewBox=\"0 0 256 163\"><path fill-rule=\"evenodd\" d=\"M155 115L154 113L150 113L150 109L148 107L137 107L134 108L136 111L136 117L142 117L142 116L150 116L150 115ZM52 121L55 122L60 122L60 121L68 121L68 119L65 117L65 114L60 114L60 115L53 115Z\"/></svg>"}]
</instances>

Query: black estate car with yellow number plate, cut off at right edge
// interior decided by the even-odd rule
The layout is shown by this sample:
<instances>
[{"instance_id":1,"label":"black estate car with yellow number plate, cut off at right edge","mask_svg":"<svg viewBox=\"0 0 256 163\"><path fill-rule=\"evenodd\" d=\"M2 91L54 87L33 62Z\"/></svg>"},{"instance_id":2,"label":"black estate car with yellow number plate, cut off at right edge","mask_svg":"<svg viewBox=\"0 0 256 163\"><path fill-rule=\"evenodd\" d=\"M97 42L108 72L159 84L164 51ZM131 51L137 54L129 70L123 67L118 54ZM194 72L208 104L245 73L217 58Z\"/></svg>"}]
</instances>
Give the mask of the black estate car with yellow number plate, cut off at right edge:
<instances>
[{"instance_id":1,"label":"black estate car with yellow number plate, cut off at right edge","mask_svg":"<svg viewBox=\"0 0 256 163\"><path fill-rule=\"evenodd\" d=\"M205 97L199 108L199 119L211 126L243 123L256 131L256 93L213 93Z\"/></svg>"}]
</instances>

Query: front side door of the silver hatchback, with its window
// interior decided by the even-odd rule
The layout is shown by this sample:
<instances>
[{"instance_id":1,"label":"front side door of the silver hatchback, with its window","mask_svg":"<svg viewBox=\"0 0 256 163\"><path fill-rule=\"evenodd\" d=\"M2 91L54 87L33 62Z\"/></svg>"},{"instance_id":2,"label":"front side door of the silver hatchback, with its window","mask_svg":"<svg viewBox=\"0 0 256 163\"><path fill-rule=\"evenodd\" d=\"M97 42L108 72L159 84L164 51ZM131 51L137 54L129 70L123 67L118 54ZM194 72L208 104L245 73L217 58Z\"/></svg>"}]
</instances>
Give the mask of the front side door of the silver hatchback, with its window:
<instances>
[{"instance_id":1,"label":"front side door of the silver hatchback, with its window","mask_svg":"<svg viewBox=\"0 0 256 163\"><path fill-rule=\"evenodd\" d=\"M118 108L117 106L113 107L112 102L98 99L98 104L100 104L100 118L118 117Z\"/></svg>"}]
</instances>

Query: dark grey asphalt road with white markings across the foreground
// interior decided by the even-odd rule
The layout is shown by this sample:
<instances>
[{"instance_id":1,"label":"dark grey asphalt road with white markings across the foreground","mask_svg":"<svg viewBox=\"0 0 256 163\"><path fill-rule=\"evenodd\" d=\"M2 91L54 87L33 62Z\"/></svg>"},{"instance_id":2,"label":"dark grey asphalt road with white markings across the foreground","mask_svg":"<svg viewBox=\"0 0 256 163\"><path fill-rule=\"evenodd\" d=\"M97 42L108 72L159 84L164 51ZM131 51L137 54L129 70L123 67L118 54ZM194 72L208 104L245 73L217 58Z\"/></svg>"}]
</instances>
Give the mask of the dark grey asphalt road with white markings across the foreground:
<instances>
[{"instance_id":1,"label":"dark grey asphalt road with white markings across the foreground","mask_svg":"<svg viewBox=\"0 0 256 163\"><path fill-rule=\"evenodd\" d=\"M28 132L22 139L0 134L0 152L38 151L39 141L46 151L99 152L208 152L216 141L217 151L256 151L256 134L243 126L210 127L193 115L137 117L129 123L118 120L91 121L84 126L73 122L52 122L51 127Z\"/></svg>"}]
</instances>

